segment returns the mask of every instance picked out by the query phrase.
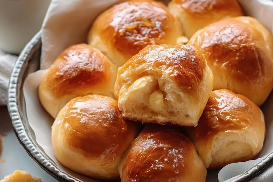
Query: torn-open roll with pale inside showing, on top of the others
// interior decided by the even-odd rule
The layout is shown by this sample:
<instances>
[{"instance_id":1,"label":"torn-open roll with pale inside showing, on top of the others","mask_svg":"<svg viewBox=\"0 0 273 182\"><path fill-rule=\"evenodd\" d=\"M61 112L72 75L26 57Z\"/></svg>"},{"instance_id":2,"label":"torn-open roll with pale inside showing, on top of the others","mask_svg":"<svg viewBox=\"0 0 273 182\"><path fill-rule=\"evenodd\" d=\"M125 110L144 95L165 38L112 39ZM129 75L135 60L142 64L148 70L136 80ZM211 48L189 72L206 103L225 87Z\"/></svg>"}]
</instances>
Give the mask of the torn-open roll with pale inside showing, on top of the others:
<instances>
[{"instance_id":1,"label":"torn-open roll with pale inside showing, on top of the others","mask_svg":"<svg viewBox=\"0 0 273 182\"><path fill-rule=\"evenodd\" d=\"M212 91L203 56L187 45L148 45L118 69L115 95L130 120L196 126Z\"/></svg>"}]
</instances>

